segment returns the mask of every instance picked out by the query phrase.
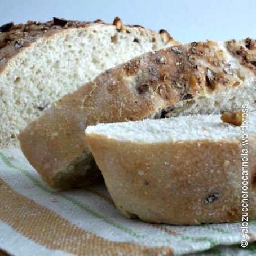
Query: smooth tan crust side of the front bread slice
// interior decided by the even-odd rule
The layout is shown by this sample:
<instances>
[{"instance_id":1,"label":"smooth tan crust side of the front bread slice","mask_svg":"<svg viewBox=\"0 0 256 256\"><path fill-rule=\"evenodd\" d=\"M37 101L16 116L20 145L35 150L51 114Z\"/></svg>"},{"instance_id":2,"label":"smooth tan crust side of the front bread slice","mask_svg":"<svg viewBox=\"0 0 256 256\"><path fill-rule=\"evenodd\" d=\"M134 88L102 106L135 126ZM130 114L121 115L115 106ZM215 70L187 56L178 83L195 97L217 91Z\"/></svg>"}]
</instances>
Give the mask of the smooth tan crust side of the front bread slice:
<instances>
[{"instance_id":1,"label":"smooth tan crust side of the front bread slice","mask_svg":"<svg viewBox=\"0 0 256 256\"><path fill-rule=\"evenodd\" d=\"M127 218L176 225L242 220L241 140L133 143L86 133ZM256 219L256 136L249 140L248 217Z\"/></svg>"}]
</instances>

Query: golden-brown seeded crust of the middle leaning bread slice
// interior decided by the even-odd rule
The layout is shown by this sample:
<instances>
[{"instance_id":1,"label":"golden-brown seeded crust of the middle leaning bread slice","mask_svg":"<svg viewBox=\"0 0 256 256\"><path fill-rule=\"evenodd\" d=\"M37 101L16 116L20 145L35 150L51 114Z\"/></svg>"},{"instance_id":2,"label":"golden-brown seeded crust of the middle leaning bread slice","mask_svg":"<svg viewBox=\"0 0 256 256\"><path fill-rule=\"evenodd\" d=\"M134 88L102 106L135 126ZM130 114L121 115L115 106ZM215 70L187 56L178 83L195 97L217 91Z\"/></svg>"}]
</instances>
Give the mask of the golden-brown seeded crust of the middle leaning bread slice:
<instances>
[{"instance_id":1,"label":"golden-brown seeded crust of the middle leaning bread slice","mask_svg":"<svg viewBox=\"0 0 256 256\"><path fill-rule=\"evenodd\" d=\"M243 65L231 69L230 58L224 44L208 41L151 52L109 69L30 123L19 136L21 149L53 186L58 172L89 152L83 140L88 125L152 117L176 103L240 86L245 76L255 79Z\"/></svg>"}]
</instances>

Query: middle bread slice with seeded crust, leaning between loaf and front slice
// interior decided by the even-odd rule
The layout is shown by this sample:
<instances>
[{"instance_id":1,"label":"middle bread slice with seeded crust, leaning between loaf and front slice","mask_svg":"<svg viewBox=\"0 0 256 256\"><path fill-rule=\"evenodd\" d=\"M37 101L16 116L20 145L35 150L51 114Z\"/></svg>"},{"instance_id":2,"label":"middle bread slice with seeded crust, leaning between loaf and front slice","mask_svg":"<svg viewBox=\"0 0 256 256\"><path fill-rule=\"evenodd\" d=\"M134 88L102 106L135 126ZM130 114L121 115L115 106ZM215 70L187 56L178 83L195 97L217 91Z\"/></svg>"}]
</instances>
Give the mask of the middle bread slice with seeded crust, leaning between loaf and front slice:
<instances>
[{"instance_id":1,"label":"middle bread slice with seeded crust, leaning between loaf and front slice","mask_svg":"<svg viewBox=\"0 0 256 256\"><path fill-rule=\"evenodd\" d=\"M219 113L244 102L255 110L254 43L191 43L109 69L30 123L19 136L21 149L50 186L79 186L95 174L83 136L89 125Z\"/></svg>"}]
</instances>

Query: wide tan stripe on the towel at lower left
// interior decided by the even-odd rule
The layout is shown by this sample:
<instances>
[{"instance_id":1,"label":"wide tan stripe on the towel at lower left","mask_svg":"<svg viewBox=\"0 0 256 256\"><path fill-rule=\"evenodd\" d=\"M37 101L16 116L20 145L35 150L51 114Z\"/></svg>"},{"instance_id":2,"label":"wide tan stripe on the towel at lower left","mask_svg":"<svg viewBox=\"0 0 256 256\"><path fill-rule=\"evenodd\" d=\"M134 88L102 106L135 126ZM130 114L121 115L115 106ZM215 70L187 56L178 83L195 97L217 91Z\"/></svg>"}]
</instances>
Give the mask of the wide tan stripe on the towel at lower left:
<instances>
[{"instance_id":1,"label":"wide tan stripe on the towel at lower left","mask_svg":"<svg viewBox=\"0 0 256 256\"><path fill-rule=\"evenodd\" d=\"M0 189L0 219L21 235L48 249L76 255L172 254L171 249L166 247L148 248L130 242L109 241L20 195L1 179Z\"/></svg>"}]
</instances>

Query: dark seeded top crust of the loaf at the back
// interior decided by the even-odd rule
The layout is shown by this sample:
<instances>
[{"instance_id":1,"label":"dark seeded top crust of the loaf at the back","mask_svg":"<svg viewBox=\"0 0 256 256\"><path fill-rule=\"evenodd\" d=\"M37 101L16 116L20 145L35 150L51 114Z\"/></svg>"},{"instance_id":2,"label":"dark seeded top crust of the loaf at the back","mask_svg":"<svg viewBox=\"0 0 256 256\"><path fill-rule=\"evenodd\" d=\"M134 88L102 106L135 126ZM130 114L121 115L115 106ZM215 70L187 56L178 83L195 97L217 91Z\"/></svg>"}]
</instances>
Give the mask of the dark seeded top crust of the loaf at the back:
<instances>
[{"instance_id":1,"label":"dark seeded top crust of the loaf at the back","mask_svg":"<svg viewBox=\"0 0 256 256\"><path fill-rule=\"evenodd\" d=\"M129 33L129 28L138 27L142 34L149 31L152 34L158 34L152 30L145 29L139 25L123 25L120 18L116 17L113 24L104 23L98 19L94 22L81 22L73 20L64 20L54 18L48 22L28 21L26 24L7 23L0 27L0 73L3 72L6 65L14 56L24 51L26 47L32 46L34 42L39 39L51 37L56 33L63 32L64 30L74 28L90 27L94 23L100 23L107 26L115 25L117 30L123 33ZM1 33L2 32L2 33ZM160 30L160 34L165 43L175 44L175 40L170 36L166 30ZM176 42L178 44L178 42Z\"/></svg>"}]
</instances>

